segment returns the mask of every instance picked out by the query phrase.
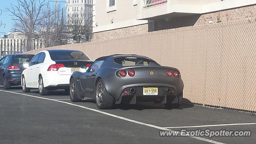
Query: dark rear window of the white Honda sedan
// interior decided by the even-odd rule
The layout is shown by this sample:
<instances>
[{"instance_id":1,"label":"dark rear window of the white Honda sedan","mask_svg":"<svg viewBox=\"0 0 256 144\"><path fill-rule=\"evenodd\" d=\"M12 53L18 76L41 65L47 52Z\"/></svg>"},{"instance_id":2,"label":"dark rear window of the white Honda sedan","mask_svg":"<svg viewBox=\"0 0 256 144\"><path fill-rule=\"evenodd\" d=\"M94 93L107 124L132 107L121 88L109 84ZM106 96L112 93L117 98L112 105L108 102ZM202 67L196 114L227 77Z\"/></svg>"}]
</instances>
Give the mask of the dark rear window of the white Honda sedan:
<instances>
[{"instance_id":1,"label":"dark rear window of the white Honda sedan","mask_svg":"<svg viewBox=\"0 0 256 144\"><path fill-rule=\"evenodd\" d=\"M81 51L49 51L52 60L90 60Z\"/></svg>"}]
</instances>

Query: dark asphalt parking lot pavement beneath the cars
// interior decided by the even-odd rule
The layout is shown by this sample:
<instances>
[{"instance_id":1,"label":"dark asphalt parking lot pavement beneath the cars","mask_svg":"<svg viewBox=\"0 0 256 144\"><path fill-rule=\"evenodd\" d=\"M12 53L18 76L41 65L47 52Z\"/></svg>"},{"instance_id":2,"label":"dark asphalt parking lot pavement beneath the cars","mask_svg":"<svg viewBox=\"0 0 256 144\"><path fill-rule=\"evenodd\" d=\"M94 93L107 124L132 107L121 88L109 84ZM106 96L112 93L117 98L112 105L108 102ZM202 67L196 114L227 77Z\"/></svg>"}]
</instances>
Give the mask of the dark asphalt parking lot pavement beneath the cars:
<instances>
[{"instance_id":1,"label":"dark asphalt parking lot pavement beneath the cars","mask_svg":"<svg viewBox=\"0 0 256 144\"><path fill-rule=\"evenodd\" d=\"M249 130L251 136L160 136L160 131ZM99 110L94 99L71 102L63 90L40 96L0 85L0 144L253 144L256 116L182 104L139 103Z\"/></svg>"}]
</instances>

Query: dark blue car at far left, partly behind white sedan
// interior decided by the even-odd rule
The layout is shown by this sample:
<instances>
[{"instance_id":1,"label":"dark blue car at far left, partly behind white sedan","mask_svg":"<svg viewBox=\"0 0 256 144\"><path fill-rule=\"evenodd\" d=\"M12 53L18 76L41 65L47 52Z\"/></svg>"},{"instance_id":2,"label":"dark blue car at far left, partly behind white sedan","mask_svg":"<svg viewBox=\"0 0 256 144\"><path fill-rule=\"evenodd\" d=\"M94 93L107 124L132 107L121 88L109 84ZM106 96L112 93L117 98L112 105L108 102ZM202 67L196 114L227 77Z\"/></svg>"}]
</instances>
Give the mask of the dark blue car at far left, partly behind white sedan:
<instances>
[{"instance_id":1,"label":"dark blue car at far left, partly behind white sedan","mask_svg":"<svg viewBox=\"0 0 256 144\"><path fill-rule=\"evenodd\" d=\"M0 84L8 90L11 86L20 85L21 74L25 69L24 62L30 62L33 54L9 54L0 60Z\"/></svg>"}]
</instances>

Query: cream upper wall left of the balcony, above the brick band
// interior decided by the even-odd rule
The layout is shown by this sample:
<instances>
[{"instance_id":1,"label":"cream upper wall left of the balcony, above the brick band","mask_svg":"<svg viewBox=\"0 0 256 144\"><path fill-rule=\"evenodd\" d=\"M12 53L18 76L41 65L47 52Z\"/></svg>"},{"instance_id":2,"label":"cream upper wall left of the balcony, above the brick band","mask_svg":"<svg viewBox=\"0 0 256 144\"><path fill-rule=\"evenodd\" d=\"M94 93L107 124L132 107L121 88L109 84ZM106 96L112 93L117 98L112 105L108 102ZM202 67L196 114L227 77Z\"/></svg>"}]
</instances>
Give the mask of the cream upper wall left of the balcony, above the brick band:
<instances>
[{"instance_id":1,"label":"cream upper wall left of the balcony, above the brick band","mask_svg":"<svg viewBox=\"0 0 256 144\"><path fill-rule=\"evenodd\" d=\"M136 20L137 6L134 6L133 0L116 0L116 10L108 12L108 0L93 1L93 32L101 32L146 24L147 20ZM113 23L110 22L113 19ZM98 26L95 24L98 23Z\"/></svg>"}]
</instances>

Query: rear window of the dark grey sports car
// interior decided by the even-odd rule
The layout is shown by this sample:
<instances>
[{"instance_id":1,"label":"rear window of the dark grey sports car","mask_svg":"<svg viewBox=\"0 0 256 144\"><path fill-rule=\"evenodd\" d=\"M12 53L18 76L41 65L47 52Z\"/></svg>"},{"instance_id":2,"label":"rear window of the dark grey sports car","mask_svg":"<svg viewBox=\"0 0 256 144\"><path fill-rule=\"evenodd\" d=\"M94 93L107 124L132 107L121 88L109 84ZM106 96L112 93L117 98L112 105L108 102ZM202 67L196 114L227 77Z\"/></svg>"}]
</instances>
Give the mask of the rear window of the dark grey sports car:
<instances>
[{"instance_id":1,"label":"rear window of the dark grey sports car","mask_svg":"<svg viewBox=\"0 0 256 144\"><path fill-rule=\"evenodd\" d=\"M122 66L160 66L154 60L140 57L121 57L115 58L114 62Z\"/></svg>"}]
</instances>

